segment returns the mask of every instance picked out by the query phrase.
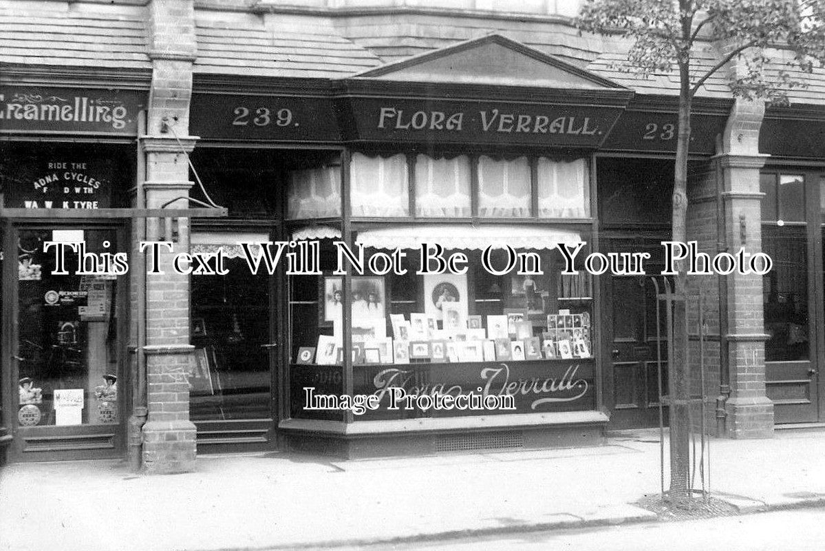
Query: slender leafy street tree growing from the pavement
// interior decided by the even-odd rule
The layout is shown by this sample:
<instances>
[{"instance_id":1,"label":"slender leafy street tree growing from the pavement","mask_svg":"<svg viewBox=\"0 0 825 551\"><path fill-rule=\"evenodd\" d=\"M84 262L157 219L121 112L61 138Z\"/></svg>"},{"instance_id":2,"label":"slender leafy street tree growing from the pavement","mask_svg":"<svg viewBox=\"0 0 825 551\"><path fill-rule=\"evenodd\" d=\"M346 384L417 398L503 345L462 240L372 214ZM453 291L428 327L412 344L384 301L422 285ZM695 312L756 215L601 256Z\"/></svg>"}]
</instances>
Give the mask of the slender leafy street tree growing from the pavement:
<instances>
[{"instance_id":1,"label":"slender leafy street tree growing from the pavement","mask_svg":"<svg viewBox=\"0 0 825 551\"><path fill-rule=\"evenodd\" d=\"M687 154L691 138L691 102L702 84L738 62L744 70L728 75L733 94L745 99L787 102L787 91L804 86L800 74L825 66L825 0L585 0L576 25L580 31L629 40L621 69L646 78L653 73L679 75L678 134L672 200L672 240L686 241ZM697 69L691 62L702 47L719 51L717 63ZM769 51L792 54L786 68L771 78L763 67ZM720 73L721 74L721 73ZM686 296L684 266L677 266L677 295ZM674 343L670 359L671 481L668 495L686 501L690 467L690 371L687 366L686 302L673 312Z\"/></svg>"}]
</instances>

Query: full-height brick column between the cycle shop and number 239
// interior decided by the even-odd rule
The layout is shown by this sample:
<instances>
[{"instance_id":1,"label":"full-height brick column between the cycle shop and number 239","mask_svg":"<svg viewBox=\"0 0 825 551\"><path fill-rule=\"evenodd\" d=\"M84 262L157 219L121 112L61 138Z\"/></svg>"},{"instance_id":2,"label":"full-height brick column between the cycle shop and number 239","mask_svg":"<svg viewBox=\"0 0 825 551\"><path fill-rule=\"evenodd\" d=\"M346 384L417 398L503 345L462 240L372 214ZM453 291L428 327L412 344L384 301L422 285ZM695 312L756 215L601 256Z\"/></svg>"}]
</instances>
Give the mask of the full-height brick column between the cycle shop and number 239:
<instances>
[{"instance_id":1,"label":"full-height brick column between the cycle shop and number 239","mask_svg":"<svg viewBox=\"0 0 825 551\"><path fill-rule=\"evenodd\" d=\"M148 208L188 197L186 153L196 138L189 136L192 63L196 56L192 0L152 0L149 55L153 62L149 93L144 198ZM185 208L185 199L171 207ZM187 221L167 226L148 219L147 240L172 241L174 253L186 251ZM146 372L148 421L143 427L146 473L182 473L194 468L195 425L189 420L188 375L189 278L172 271L173 253L161 249L163 274L149 274L146 283Z\"/></svg>"}]
</instances>

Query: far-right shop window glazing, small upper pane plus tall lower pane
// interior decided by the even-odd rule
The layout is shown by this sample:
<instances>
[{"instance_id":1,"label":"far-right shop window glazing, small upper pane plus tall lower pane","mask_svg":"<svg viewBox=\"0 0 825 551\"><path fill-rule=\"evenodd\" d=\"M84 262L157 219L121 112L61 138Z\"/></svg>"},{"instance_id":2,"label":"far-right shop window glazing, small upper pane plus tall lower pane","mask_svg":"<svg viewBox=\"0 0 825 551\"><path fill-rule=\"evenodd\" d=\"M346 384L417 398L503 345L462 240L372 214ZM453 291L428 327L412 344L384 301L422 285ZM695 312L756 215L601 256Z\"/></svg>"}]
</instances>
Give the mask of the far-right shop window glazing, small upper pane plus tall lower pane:
<instances>
[{"instance_id":1,"label":"far-right shop window glazing, small upper pane plus tall lower pane","mask_svg":"<svg viewBox=\"0 0 825 551\"><path fill-rule=\"evenodd\" d=\"M763 173L762 251L774 265L763 278L766 361L809 358L808 236L804 176ZM789 223L790 222L790 223Z\"/></svg>"}]
</instances>

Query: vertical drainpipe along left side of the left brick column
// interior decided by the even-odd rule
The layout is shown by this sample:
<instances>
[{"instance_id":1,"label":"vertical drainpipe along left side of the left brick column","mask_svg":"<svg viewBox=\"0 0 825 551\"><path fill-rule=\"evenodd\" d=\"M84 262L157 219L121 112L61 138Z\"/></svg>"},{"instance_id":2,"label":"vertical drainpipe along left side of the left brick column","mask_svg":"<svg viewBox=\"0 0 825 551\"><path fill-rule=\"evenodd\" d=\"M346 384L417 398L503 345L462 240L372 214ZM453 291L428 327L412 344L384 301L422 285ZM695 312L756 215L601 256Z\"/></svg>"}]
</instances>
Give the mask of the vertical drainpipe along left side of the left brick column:
<instances>
[{"instance_id":1,"label":"vertical drainpipe along left side of the left brick column","mask_svg":"<svg viewBox=\"0 0 825 551\"><path fill-rule=\"evenodd\" d=\"M146 208L146 198L144 197L144 181L146 180L146 156L141 143L141 136L146 134L146 112L139 113L138 119L138 161L137 161L137 182L135 183L134 207L138 209ZM139 243L146 240L146 219L135 218L132 224L134 235L132 242ZM135 250L137 250L135 248ZM148 417L146 406L146 268L143 254L136 254L132 263L132 277L135 278L135 302L134 316L137 318L134 346L130 347L130 352L134 354L134 360L130 365L134 367L134 377L132 380L132 416L129 419L129 467L133 472L138 472L143 458L143 426Z\"/></svg>"}]
</instances>

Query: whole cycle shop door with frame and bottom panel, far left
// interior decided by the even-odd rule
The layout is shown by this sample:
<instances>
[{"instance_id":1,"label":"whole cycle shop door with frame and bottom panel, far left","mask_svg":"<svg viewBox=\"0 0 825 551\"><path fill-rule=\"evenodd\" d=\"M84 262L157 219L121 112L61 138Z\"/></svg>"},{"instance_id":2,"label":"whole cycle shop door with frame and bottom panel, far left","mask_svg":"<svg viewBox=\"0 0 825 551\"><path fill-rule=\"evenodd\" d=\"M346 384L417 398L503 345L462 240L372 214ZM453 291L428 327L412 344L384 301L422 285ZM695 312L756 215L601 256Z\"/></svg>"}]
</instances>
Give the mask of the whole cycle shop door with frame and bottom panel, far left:
<instances>
[{"instance_id":1,"label":"whole cycle shop door with frame and bottom panel, far left","mask_svg":"<svg viewBox=\"0 0 825 551\"><path fill-rule=\"evenodd\" d=\"M95 259L124 252L125 228L8 224L4 234L2 362L12 461L120 457L128 276L77 272L84 258L83 269L94 271L102 268ZM45 250L47 242L83 245Z\"/></svg>"}]
</instances>

